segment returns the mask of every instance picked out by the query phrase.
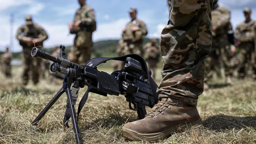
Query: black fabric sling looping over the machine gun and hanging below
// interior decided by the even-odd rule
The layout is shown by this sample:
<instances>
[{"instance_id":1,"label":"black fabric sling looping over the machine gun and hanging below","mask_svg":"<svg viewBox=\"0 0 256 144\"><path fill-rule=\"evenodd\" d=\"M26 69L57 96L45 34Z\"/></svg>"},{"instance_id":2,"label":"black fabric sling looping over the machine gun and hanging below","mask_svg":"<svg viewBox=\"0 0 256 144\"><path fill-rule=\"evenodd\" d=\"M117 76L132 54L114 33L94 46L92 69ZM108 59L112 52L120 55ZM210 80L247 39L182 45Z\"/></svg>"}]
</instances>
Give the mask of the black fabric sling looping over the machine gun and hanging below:
<instances>
[{"instance_id":1,"label":"black fabric sling looping over the machine gun and hanging below","mask_svg":"<svg viewBox=\"0 0 256 144\"><path fill-rule=\"evenodd\" d=\"M133 59L135 59L135 60L138 60L138 61L142 64L142 65L141 65L142 69L143 69L145 72L147 72L148 77L150 78L150 83L153 84L152 81L154 81L154 80L151 78L151 76L150 76L149 73L148 73L148 68L147 68L147 64L146 64L145 60L144 60L141 56L139 56L139 55L137 55L137 54L128 54L128 55L124 55L124 56L120 56L120 57L111 57L111 58L105 58L105 57L92 58L92 59L90 59L90 60L86 63L86 66L96 67L96 66L98 66L98 65L101 64L101 63L107 62L108 60L120 60L120 61L125 61L127 57L131 57L131 58L133 58ZM152 86L152 85L151 85L151 86ZM78 84L77 84L76 82L73 84L72 88L73 88L73 87L76 88L76 89L79 88L79 86L78 86ZM152 91L152 94L154 94L154 95L156 95L156 87L157 87L157 85L154 85L154 86L151 87L151 89L153 90L153 91ZM85 102L86 102L86 100L87 100L87 98L88 98L88 94L89 94L89 92L88 92L88 90L87 90L87 91L85 92L83 98L81 99L80 103L79 103L79 106L78 106L78 109L77 109L77 120L78 120L78 116L79 116L79 114L80 114L82 108L84 107L84 104L85 104ZM76 98L73 97L73 101L76 101ZM67 108L66 108L66 112L65 112L65 115L64 115L63 123L64 123L64 125L65 125L66 127L69 127L69 126L68 126L68 120L69 120L71 114L70 114L70 110L69 110L68 104L66 105L66 107L67 107Z\"/></svg>"}]
</instances>

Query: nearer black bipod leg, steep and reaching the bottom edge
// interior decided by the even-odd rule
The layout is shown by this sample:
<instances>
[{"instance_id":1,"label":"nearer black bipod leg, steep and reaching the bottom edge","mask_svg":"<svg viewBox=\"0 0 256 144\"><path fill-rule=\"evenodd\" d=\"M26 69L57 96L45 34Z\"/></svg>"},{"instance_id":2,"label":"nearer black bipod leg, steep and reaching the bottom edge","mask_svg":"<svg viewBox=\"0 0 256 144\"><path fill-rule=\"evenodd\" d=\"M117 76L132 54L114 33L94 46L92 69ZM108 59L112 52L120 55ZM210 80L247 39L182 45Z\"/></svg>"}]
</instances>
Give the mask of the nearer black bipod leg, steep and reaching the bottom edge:
<instances>
[{"instance_id":1,"label":"nearer black bipod leg, steep and reaching the bottom edge","mask_svg":"<svg viewBox=\"0 0 256 144\"><path fill-rule=\"evenodd\" d=\"M82 140L81 140L79 127L78 127L78 123L77 123L77 119L76 119L76 111L75 111L74 102L73 102L73 99L72 99L72 93L71 93L70 86L68 86L68 85L66 86L65 92L66 92L67 97L68 97L68 105L69 105L69 108L70 108L73 129L74 129L75 136L76 136L76 143L81 144Z\"/></svg>"}]
</instances>

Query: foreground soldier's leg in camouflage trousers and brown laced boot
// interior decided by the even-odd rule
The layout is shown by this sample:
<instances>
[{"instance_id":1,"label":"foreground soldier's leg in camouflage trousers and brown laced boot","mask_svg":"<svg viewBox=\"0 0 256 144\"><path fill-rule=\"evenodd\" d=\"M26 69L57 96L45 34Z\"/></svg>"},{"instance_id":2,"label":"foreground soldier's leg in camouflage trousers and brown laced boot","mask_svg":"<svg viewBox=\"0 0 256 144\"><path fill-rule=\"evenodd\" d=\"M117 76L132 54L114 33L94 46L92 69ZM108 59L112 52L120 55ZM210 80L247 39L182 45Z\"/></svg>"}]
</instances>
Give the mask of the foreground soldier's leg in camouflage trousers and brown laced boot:
<instances>
[{"instance_id":1,"label":"foreground soldier's leg in camouflage trousers and brown laced boot","mask_svg":"<svg viewBox=\"0 0 256 144\"><path fill-rule=\"evenodd\" d=\"M169 25L161 34L159 102L144 119L124 125L126 139L162 140L178 130L203 127L196 106L204 89L204 60L212 44L212 3L172 0Z\"/></svg>"}]
</instances>

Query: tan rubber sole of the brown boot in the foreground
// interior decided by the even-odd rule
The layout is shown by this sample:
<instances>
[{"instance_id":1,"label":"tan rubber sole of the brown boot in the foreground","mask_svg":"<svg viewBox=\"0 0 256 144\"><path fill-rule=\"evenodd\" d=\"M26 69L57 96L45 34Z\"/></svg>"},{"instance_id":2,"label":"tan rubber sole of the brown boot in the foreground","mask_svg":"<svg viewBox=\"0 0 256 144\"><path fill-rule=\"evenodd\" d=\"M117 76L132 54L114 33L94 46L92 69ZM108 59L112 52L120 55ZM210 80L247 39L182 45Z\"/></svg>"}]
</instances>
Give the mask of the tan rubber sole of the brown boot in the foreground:
<instances>
[{"instance_id":1,"label":"tan rubber sole of the brown boot in the foreground","mask_svg":"<svg viewBox=\"0 0 256 144\"><path fill-rule=\"evenodd\" d=\"M123 137L128 140L135 140L135 141L150 141L150 142L156 142L158 140L164 140L165 138L171 136L175 132L181 132L186 129L195 129L195 130L201 130L204 128L202 119L192 122L190 124L181 123L176 124L164 131L157 132L157 133L138 133L136 131L130 130L128 128L123 128L122 133Z\"/></svg>"}]
</instances>

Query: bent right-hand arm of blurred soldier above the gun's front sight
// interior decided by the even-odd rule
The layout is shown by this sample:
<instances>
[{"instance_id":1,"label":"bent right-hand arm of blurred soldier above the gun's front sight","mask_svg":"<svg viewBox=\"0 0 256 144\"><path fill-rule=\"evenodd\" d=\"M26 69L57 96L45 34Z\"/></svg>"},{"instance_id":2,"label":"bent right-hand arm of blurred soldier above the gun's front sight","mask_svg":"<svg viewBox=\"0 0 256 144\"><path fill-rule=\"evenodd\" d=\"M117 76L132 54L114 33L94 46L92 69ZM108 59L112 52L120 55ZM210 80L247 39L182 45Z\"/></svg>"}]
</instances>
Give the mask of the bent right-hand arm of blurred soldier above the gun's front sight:
<instances>
[{"instance_id":1,"label":"bent right-hand arm of blurred soldier above the gun's front sight","mask_svg":"<svg viewBox=\"0 0 256 144\"><path fill-rule=\"evenodd\" d=\"M82 18L81 19L81 24L82 25L93 25L96 23L95 20L95 13L94 10L92 8L86 8L84 10L84 14L88 17L88 18Z\"/></svg>"}]
</instances>

